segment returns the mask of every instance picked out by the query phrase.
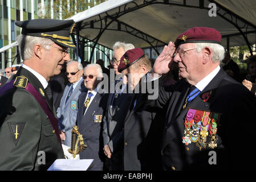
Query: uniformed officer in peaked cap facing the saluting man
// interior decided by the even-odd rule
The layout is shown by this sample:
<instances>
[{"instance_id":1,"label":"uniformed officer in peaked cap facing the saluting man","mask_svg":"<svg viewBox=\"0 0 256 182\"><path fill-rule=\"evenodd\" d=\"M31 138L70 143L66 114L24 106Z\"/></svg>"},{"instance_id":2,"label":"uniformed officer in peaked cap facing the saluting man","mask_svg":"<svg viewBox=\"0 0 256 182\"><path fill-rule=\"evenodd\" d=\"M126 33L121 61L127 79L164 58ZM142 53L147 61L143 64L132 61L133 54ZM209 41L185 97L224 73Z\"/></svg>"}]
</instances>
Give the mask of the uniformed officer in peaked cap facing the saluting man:
<instances>
[{"instance_id":1,"label":"uniformed officer in peaked cap facing the saluting man","mask_svg":"<svg viewBox=\"0 0 256 182\"><path fill-rule=\"evenodd\" d=\"M0 89L0 170L46 170L64 158L50 77L70 61L74 20L15 22L23 64Z\"/></svg>"}]
</instances>

